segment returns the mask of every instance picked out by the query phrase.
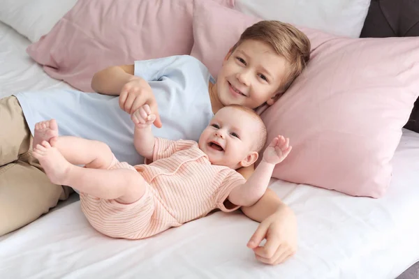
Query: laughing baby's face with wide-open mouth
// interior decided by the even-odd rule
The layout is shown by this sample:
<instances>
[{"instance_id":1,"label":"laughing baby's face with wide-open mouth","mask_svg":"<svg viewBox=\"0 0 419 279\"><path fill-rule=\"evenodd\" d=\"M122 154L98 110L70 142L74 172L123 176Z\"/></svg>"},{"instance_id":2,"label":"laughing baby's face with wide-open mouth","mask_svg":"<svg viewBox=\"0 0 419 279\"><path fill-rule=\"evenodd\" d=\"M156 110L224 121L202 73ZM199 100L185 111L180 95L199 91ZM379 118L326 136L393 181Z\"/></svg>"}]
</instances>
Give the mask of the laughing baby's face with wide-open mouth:
<instances>
[{"instance_id":1,"label":"laughing baby's face with wide-open mouth","mask_svg":"<svg viewBox=\"0 0 419 279\"><path fill-rule=\"evenodd\" d=\"M254 116L233 107L217 112L199 138L199 147L214 165L232 169L246 167L258 159L254 151L260 127Z\"/></svg>"}]
</instances>

